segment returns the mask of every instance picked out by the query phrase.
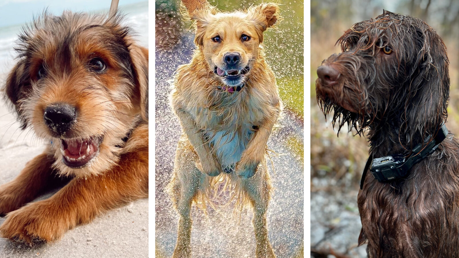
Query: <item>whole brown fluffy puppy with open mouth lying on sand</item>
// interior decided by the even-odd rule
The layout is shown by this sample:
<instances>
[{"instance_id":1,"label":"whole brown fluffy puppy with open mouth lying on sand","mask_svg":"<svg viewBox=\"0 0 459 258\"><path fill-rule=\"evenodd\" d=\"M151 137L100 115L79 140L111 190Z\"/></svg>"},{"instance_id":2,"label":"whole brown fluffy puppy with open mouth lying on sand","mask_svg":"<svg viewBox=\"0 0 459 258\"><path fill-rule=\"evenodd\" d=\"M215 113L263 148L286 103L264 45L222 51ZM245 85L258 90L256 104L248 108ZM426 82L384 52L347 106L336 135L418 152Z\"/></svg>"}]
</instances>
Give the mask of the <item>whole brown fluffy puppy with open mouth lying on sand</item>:
<instances>
[{"instance_id":1,"label":"whole brown fluffy puppy with open mouth lying on sand","mask_svg":"<svg viewBox=\"0 0 459 258\"><path fill-rule=\"evenodd\" d=\"M148 196L148 50L120 22L45 13L19 36L6 96L22 128L49 144L0 186L1 236L56 240ZM28 203L62 175L71 179L61 190Z\"/></svg>"}]
</instances>

